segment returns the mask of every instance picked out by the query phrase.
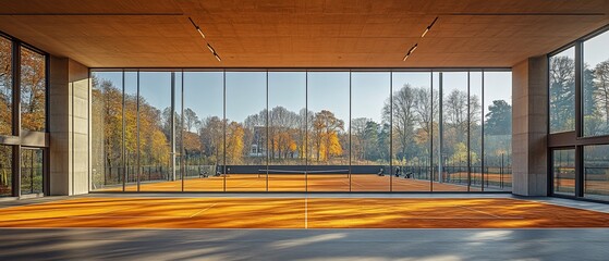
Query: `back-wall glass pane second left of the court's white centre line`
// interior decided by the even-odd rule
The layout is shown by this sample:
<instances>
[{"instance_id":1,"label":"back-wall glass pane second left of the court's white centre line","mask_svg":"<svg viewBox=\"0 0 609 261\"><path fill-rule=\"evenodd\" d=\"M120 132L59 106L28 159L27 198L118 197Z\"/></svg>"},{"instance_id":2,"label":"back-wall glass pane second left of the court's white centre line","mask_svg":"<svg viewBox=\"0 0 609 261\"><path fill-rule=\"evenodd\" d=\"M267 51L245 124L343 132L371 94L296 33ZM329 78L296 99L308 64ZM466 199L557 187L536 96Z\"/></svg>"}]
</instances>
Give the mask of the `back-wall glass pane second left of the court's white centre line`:
<instances>
[{"instance_id":1,"label":"back-wall glass pane second left of the court's white centre line","mask_svg":"<svg viewBox=\"0 0 609 261\"><path fill-rule=\"evenodd\" d=\"M227 72L227 191L267 189L267 73Z\"/></svg>"}]
</instances>

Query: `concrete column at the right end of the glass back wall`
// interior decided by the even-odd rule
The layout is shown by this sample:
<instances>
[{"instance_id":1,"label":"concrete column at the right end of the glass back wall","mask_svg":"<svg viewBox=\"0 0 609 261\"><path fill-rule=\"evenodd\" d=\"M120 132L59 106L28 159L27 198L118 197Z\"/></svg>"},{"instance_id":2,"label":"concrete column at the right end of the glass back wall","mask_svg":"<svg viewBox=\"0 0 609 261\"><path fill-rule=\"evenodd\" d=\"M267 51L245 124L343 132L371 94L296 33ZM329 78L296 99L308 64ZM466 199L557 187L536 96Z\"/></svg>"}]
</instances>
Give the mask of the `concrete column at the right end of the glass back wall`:
<instances>
[{"instance_id":1,"label":"concrete column at the right end of the glass back wall","mask_svg":"<svg viewBox=\"0 0 609 261\"><path fill-rule=\"evenodd\" d=\"M512 192L548 194L547 57L535 57L512 67Z\"/></svg>"}]
</instances>

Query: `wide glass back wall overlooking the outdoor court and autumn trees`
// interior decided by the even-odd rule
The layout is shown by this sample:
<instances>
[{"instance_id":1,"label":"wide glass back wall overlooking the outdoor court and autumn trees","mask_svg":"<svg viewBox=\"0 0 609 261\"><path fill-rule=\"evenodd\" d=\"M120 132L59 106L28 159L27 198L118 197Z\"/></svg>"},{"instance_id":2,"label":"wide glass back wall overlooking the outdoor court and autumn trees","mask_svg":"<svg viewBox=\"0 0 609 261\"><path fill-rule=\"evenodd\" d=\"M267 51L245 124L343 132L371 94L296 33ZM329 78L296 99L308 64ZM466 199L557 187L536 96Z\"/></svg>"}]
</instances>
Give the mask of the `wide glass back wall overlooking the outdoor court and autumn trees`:
<instances>
[{"instance_id":1,"label":"wide glass back wall overlooking the outdoor court and autumn trees","mask_svg":"<svg viewBox=\"0 0 609 261\"><path fill-rule=\"evenodd\" d=\"M510 76L95 71L92 188L509 190Z\"/></svg>"}]
</instances>

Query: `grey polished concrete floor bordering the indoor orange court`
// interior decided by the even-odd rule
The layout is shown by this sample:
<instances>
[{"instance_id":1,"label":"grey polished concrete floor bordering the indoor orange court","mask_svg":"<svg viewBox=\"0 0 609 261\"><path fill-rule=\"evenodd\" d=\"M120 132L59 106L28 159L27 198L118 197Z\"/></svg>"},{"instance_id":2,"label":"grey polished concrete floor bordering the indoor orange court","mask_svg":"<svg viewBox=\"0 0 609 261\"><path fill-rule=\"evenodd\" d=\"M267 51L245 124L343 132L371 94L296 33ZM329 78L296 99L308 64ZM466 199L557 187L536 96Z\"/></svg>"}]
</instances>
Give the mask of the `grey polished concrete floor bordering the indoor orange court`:
<instances>
[{"instance_id":1,"label":"grey polished concrete floor bordering the indoor orange court","mask_svg":"<svg viewBox=\"0 0 609 261\"><path fill-rule=\"evenodd\" d=\"M114 196L121 195L108 195L108 197ZM176 195L176 197L183 196L186 195ZM243 195L233 196L243 197ZM345 197L345 195L336 196ZM269 197L269 195L261 195L261 197ZM333 196L308 195L308 197ZM512 196L352 195L349 197L501 198ZM609 212L609 204L557 198L527 199ZM32 202L35 201L40 200ZM2 202L0 206L8 204L11 203ZM608 260L609 247L607 246L609 246L607 228L0 228L0 260Z\"/></svg>"}]
</instances>

